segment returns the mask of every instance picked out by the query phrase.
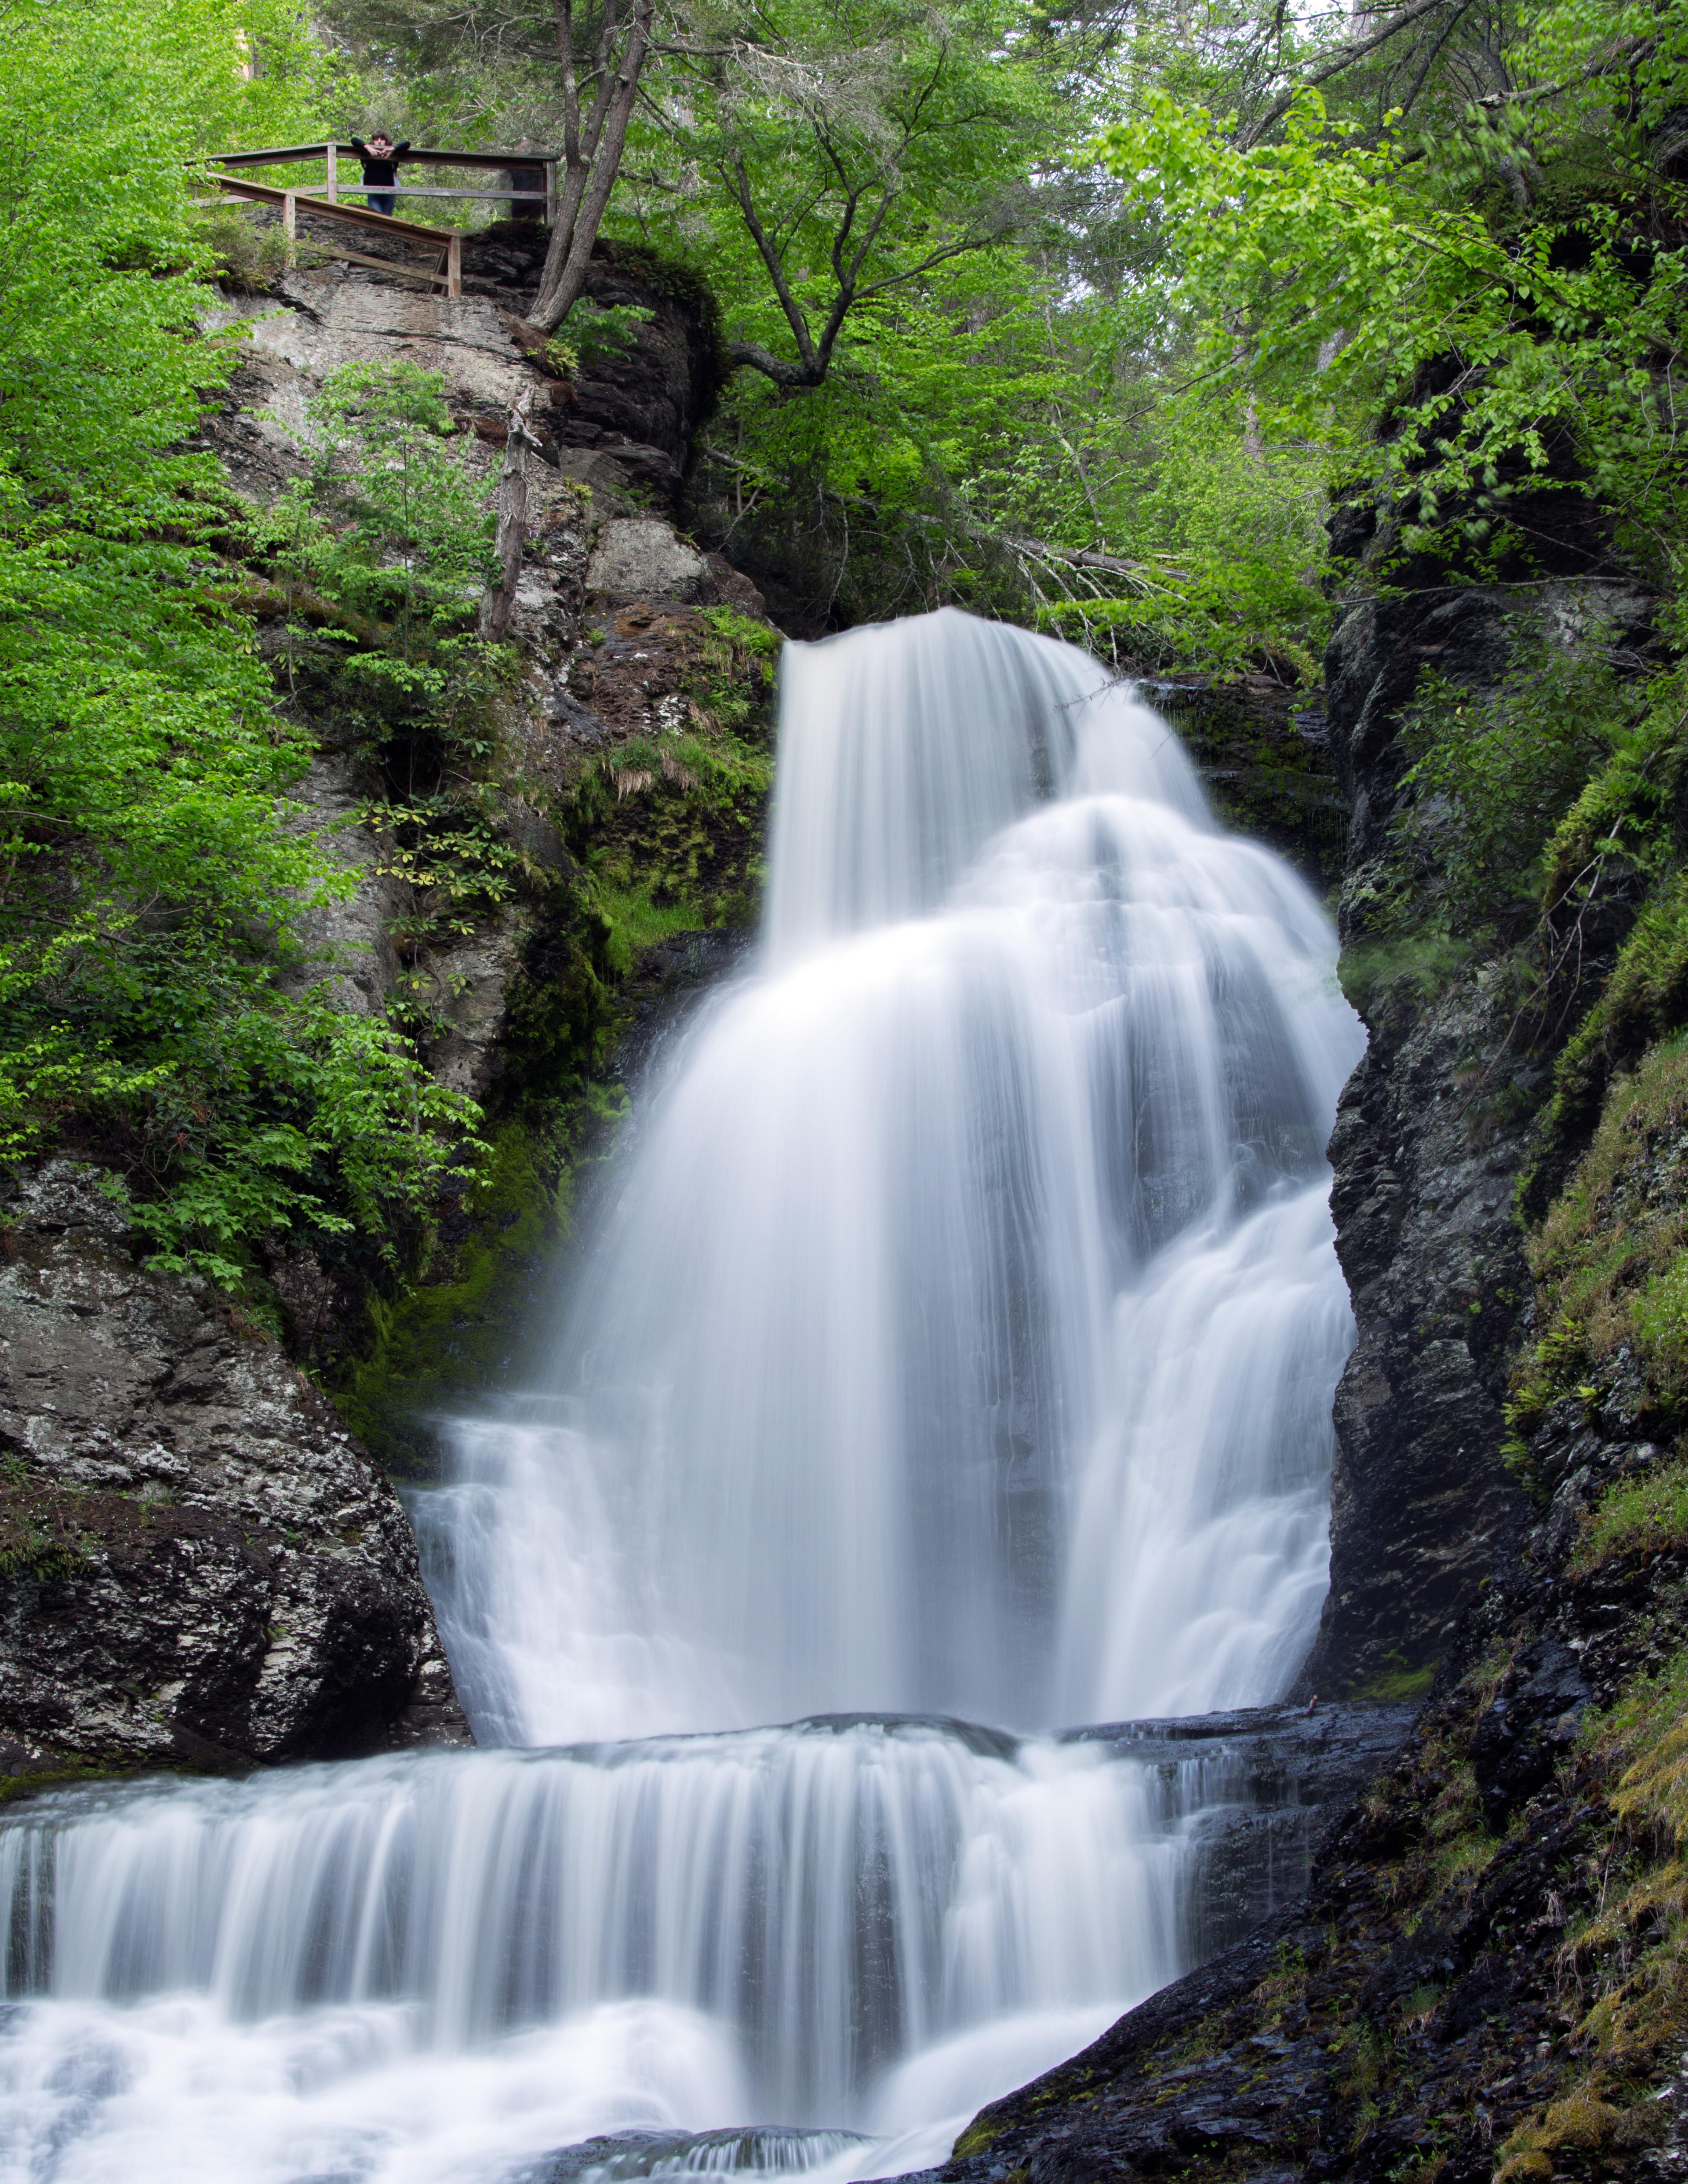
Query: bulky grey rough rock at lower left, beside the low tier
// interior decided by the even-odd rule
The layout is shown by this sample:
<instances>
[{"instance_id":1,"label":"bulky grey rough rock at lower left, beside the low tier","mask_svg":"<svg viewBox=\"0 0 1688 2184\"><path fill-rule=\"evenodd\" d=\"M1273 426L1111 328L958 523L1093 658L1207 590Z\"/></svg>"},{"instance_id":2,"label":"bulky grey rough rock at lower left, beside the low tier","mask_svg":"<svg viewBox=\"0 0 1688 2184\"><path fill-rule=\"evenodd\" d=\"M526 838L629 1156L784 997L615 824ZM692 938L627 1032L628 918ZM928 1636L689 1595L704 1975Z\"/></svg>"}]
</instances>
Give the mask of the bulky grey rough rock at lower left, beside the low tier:
<instances>
[{"instance_id":1,"label":"bulky grey rough rock at lower left, beside the low tier","mask_svg":"<svg viewBox=\"0 0 1688 2184\"><path fill-rule=\"evenodd\" d=\"M0 1765L467 1743L389 1481L210 1291L50 1162L0 1260Z\"/></svg>"}]
</instances>

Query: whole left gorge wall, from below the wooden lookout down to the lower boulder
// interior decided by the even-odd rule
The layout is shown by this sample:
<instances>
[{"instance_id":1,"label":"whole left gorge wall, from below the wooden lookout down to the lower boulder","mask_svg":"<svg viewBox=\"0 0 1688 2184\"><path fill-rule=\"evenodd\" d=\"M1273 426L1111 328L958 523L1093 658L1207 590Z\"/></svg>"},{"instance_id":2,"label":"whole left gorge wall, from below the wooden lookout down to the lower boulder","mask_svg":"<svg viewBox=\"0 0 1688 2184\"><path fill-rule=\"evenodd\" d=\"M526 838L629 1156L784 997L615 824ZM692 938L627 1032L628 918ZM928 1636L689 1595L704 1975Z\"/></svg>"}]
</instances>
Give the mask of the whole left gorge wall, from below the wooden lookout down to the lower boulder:
<instances>
[{"instance_id":1,"label":"whole left gorge wall, from below the wooden lookout down to the lower boulder","mask_svg":"<svg viewBox=\"0 0 1688 2184\"><path fill-rule=\"evenodd\" d=\"M522 675L483 782L515 885L467 930L424 915L382 828L393 753L336 692L345 631L253 577L277 699L314 743L297 823L356 878L310 913L295 976L400 1011L480 1103L489 1153L393 1238L397 1278L321 1238L269 1251L245 1304L148 1273L94 1166L7 1186L0 1795L467 1741L387 1472L426 1465L430 1404L509 1358L642 1044L756 917L780 638L673 522L714 387L710 304L605 249L592 295L644 312L631 345L596 371L533 358L513 325L542 242L469 238L461 301L308 249L229 290L247 341L205 441L258 509L301 476L308 406L343 365L439 373L489 487L526 395Z\"/></svg>"}]
</instances>

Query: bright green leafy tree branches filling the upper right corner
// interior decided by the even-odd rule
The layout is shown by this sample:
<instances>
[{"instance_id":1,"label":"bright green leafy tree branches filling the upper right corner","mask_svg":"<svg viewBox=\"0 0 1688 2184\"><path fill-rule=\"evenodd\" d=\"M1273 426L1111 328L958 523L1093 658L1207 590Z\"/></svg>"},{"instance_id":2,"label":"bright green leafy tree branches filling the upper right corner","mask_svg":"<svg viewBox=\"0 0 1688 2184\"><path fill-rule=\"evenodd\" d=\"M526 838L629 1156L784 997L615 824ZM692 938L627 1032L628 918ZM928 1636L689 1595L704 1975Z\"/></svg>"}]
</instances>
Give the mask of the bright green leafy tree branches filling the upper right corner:
<instances>
[{"instance_id":1,"label":"bright green leafy tree branches filling the upper right corner","mask_svg":"<svg viewBox=\"0 0 1688 2184\"><path fill-rule=\"evenodd\" d=\"M1496 44L1498 11L1443 0L1441 74L1378 124L1356 72L1391 24L1433 20L1402 9L1323 70L1347 111L1312 81L1256 122L1153 90L1103 157L1168 236L1201 378L1367 467L1408 546L1437 524L1498 550L1522 496L1574 480L1675 570L1688 249L1653 142L1688 92L1688 24L1651 0L1542 0Z\"/></svg>"}]
</instances>

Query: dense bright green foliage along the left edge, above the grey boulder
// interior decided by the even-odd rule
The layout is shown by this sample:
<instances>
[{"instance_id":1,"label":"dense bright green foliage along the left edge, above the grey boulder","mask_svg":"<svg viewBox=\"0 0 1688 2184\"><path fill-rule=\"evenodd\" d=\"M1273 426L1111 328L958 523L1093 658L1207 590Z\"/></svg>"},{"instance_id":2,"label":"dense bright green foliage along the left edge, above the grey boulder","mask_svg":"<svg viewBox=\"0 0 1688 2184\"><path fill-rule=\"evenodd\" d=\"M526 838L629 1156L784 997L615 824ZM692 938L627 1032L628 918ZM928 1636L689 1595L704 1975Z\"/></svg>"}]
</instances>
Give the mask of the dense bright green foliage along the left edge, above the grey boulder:
<instances>
[{"instance_id":1,"label":"dense bright green foliage along the left edge, above the grey boulder","mask_svg":"<svg viewBox=\"0 0 1688 2184\"><path fill-rule=\"evenodd\" d=\"M419 1206L474 1120L395 1026L297 978L301 911L349 882L288 804L308 745L190 446L231 347L199 334L181 162L288 120L314 48L223 0L7 28L0 188L31 245L0 271L0 1151L74 1129L162 1265L238 1282L258 1236Z\"/></svg>"}]
</instances>

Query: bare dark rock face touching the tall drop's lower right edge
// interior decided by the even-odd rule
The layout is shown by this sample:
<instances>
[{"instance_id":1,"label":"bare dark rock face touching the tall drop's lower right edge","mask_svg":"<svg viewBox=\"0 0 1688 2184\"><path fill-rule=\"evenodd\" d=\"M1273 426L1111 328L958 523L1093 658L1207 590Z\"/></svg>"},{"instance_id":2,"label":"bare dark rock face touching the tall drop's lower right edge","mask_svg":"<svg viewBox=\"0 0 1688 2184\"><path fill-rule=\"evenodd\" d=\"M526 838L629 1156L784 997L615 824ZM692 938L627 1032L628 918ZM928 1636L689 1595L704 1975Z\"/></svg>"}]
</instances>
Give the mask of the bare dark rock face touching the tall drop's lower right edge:
<instances>
[{"instance_id":1,"label":"bare dark rock face touching the tall drop's lower right edge","mask_svg":"<svg viewBox=\"0 0 1688 2184\"><path fill-rule=\"evenodd\" d=\"M1448 1651L1524 1500L1500 1463L1529 1293L1502 996L1384 1009L1330 1140L1358 1341L1336 1389L1330 1597L1304 1690L1400 1688Z\"/></svg>"}]
</instances>

